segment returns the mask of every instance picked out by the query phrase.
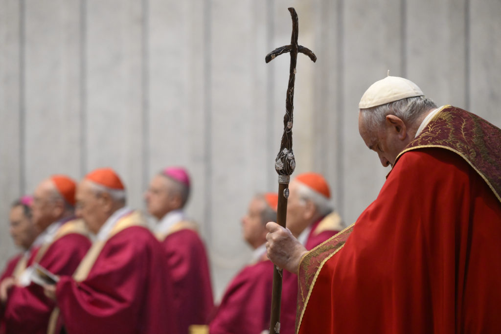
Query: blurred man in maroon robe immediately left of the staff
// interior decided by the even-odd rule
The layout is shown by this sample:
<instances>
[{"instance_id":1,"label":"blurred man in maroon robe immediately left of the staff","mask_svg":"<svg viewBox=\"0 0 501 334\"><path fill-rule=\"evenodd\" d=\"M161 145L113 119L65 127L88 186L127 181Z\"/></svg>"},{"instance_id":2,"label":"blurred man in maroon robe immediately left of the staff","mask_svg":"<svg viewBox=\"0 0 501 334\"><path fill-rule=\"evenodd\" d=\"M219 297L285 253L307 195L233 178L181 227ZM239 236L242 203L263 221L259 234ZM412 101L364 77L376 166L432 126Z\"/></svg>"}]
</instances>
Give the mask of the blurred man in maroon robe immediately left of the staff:
<instances>
[{"instance_id":1,"label":"blurred man in maroon robe immediately left of the staff","mask_svg":"<svg viewBox=\"0 0 501 334\"><path fill-rule=\"evenodd\" d=\"M258 194L242 218L252 261L229 283L210 322L210 334L261 333L270 326L273 263L266 256L266 223L277 220L277 193Z\"/></svg>"}]
</instances>

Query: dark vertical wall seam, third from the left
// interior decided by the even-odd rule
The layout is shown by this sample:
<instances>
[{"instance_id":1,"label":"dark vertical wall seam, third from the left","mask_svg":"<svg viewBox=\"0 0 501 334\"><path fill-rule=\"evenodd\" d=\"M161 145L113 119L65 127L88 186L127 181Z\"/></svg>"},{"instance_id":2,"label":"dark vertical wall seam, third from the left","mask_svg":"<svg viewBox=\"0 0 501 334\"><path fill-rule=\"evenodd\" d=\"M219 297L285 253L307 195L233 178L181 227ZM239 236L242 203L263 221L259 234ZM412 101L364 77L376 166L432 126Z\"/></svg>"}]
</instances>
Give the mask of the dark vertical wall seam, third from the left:
<instances>
[{"instance_id":1,"label":"dark vertical wall seam, third from the left","mask_svg":"<svg viewBox=\"0 0 501 334\"><path fill-rule=\"evenodd\" d=\"M146 189L149 175L149 52L148 52L148 26L149 26L149 2L142 0L142 27L141 27L141 94L142 94L142 180L141 187Z\"/></svg>"}]
</instances>

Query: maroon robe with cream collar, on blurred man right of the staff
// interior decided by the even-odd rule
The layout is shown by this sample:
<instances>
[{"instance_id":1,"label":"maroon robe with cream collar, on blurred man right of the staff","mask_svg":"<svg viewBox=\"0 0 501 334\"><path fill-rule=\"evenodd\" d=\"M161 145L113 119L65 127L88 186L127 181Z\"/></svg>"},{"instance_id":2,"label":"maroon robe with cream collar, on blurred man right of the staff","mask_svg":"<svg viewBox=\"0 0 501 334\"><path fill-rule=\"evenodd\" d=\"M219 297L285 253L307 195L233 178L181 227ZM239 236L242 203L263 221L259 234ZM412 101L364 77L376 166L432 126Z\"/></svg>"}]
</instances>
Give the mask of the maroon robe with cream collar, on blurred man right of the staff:
<instances>
[{"instance_id":1,"label":"maroon robe with cream collar, on blurred man right of the staff","mask_svg":"<svg viewBox=\"0 0 501 334\"><path fill-rule=\"evenodd\" d=\"M319 219L312 225L306 241L306 249L315 248L325 240L337 234L342 229L341 217L332 212ZM296 311L298 299L298 275L287 270L283 271L282 304L280 309L280 333L293 334L295 332ZM268 328L270 324L268 324Z\"/></svg>"}]
</instances>

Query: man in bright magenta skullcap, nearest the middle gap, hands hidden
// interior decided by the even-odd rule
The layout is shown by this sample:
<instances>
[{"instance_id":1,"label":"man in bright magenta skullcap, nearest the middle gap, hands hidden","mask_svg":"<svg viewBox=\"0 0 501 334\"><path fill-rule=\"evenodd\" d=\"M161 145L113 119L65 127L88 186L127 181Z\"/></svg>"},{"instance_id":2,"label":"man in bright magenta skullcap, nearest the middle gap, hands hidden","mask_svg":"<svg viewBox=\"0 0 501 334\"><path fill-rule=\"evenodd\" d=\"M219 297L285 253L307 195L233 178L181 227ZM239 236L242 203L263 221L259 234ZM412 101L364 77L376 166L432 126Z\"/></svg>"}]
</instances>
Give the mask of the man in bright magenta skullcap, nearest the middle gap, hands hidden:
<instances>
[{"instance_id":1,"label":"man in bright magenta skullcap, nearest the middle gap, hands hidden","mask_svg":"<svg viewBox=\"0 0 501 334\"><path fill-rule=\"evenodd\" d=\"M168 167L153 177L144 195L148 212L158 220L154 231L174 283L177 321L183 334L191 324L207 323L214 306L205 245L197 224L184 213L189 194L188 172Z\"/></svg>"}]
</instances>

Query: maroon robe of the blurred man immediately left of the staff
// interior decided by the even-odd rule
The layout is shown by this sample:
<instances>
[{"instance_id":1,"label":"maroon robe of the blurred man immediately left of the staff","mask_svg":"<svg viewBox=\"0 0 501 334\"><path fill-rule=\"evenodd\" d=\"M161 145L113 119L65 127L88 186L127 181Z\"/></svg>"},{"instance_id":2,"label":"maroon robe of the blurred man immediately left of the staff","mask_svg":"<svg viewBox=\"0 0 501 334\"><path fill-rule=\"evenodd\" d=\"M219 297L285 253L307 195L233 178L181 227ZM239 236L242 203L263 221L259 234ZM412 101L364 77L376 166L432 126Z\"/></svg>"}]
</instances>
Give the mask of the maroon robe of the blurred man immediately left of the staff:
<instances>
[{"instance_id":1,"label":"maroon robe of the blurred man immediately left of the staff","mask_svg":"<svg viewBox=\"0 0 501 334\"><path fill-rule=\"evenodd\" d=\"M270 327L273 263L244 267L229 283L209 325L210 334L259 334Z\"/></svg>"}]
</instances>

